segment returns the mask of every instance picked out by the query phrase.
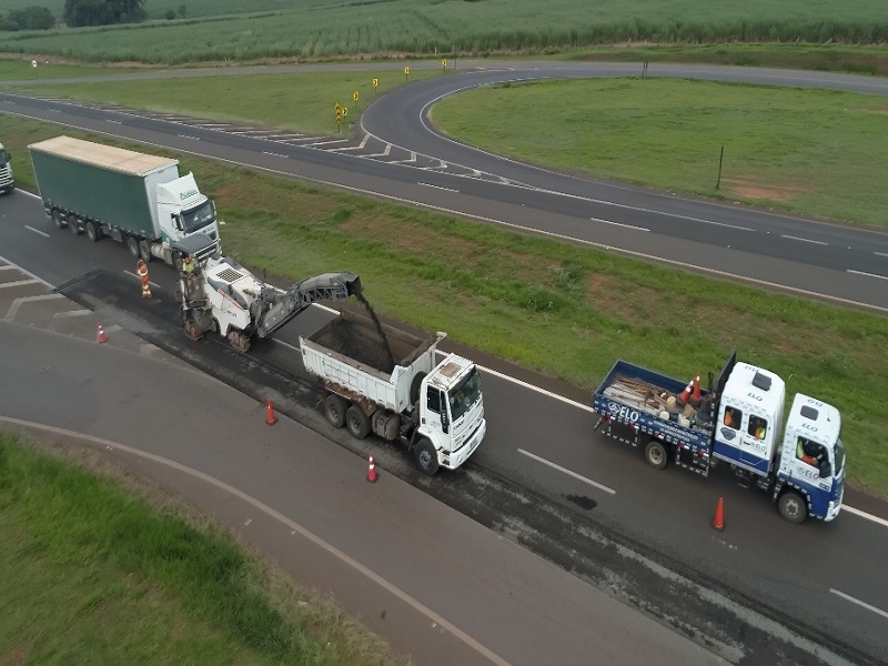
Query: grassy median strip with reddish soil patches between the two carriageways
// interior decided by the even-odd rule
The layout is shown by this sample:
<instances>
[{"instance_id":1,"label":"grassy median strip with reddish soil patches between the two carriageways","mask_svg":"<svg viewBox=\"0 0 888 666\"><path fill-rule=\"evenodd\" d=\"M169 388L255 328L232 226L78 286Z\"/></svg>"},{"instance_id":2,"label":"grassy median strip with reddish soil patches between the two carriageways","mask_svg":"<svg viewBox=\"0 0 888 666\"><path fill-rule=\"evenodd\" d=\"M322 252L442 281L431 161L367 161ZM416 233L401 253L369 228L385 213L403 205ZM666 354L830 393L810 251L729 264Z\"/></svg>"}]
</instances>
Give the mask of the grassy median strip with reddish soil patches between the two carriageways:
<instances>
[{"instance_id":1,"label":"grassy median strip with reddish soil patches between the two carriageways","mask_svg":"<svg viewBox=\"0 0 888 666\"><path fill-rule=\"evenodd\" d=\"M58 133L0 117L23 186L27 144ZM737 349L790 394L836 404L849 483L888 497L886 317L179 157L246 264L292 280L351 270L377 311L585 390L618 357L690 376Z\"/></svg>"}]
</instances>

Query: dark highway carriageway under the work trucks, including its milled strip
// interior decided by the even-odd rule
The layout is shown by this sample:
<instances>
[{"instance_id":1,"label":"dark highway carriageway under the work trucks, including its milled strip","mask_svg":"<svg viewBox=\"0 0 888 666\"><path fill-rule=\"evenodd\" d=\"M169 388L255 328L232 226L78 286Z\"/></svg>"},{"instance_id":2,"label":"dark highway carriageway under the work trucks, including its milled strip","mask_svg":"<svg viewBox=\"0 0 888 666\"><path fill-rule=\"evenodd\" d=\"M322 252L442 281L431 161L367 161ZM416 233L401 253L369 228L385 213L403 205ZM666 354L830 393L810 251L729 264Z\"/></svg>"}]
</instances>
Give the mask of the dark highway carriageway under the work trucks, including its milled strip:
<instances>
[{"instance_id":1,"label":"dark highway carriageway under the work trucks, including its milled strip","mask_svg":"<svg viewBox=\"0 0 888 666\"><path fill-rule=\"evenodd\" d=\"M583 581L643 606L720 656L768 660L783 655L795 663L842 663L824 657L829 652L811 639L840 654L850 649L858 663L866 663L867 654L884 655L888 649L882 639L885 617L831 592L877 609L888 607L886 581L879 575L880 554L888 552L884 526L845 514L835 524L794 528L779 519L764 495L737 488L727 474L700 482L680 472L656 473L636 452L591 434L594 417L582 402L564 402L505 380L495 372L514 369L472 351L465 353L484 364L487 440L458 473L421 477L398 447L357 443L331 432L319 415L316 392L291 345L329 314L312 309L282 331L281 343L258 346L246 357L211 341L195 345L180 331L168 268L151 264L157 297L141 301L132 259L122 245L92 244L52 229L39 202L24 193L3 204L0 245L7 259L56 284L68 282L61 291L92 311L97 321L138 332L149 353L154 347L170 351L236 386L256 404L273 397L280 412L345 450L366 455L367 446L379 445L374 453L389 474ZM105 270L97 272L97 265ZM0 279L9 284L0 285L0 310L9 316L18 299L27 297L20 290L36 287L17 284L26 281L14 268L0 270ZM18 322L29 309L54 306L58 301L19 301L10 319ZM58 325L59 319L68 319L29 316L21 322ZM88 339L94 340L92 324L87 326ZM529 373L524 377L538 383ZM566 395L576 393L567 387L562 392L551 382L548 386ZM709 528L719 495L728 509L729 529L724 535ZM786 566L799 558L823 576L811 581L805 572ZM718 617L715 626L714 617Z\"/></svg>"}]
</instances>

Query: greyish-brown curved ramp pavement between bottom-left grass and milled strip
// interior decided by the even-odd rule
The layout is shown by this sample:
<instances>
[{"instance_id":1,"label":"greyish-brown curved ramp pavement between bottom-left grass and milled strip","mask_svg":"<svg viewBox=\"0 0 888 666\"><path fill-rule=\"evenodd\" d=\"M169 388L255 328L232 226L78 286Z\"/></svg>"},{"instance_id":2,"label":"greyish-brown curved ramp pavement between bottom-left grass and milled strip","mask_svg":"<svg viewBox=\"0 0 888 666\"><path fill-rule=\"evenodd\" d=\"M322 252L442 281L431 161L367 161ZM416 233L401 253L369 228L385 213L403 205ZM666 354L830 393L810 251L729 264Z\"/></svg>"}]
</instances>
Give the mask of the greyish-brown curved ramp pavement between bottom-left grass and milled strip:
<instances>
[{"instance_id":1,"label":"greyish-brown curved ramp pavement between bottom-left grass and milled strip","mask_svg":"<svg viewBox=\"0 0 888 666\"><path fill-rule=\"evenodd\" d=\"M0 339L0 427L50 426L29 432L183 495L420 664L723 663L178 359L6 321Z\"/></svg>"}]
</instances>

